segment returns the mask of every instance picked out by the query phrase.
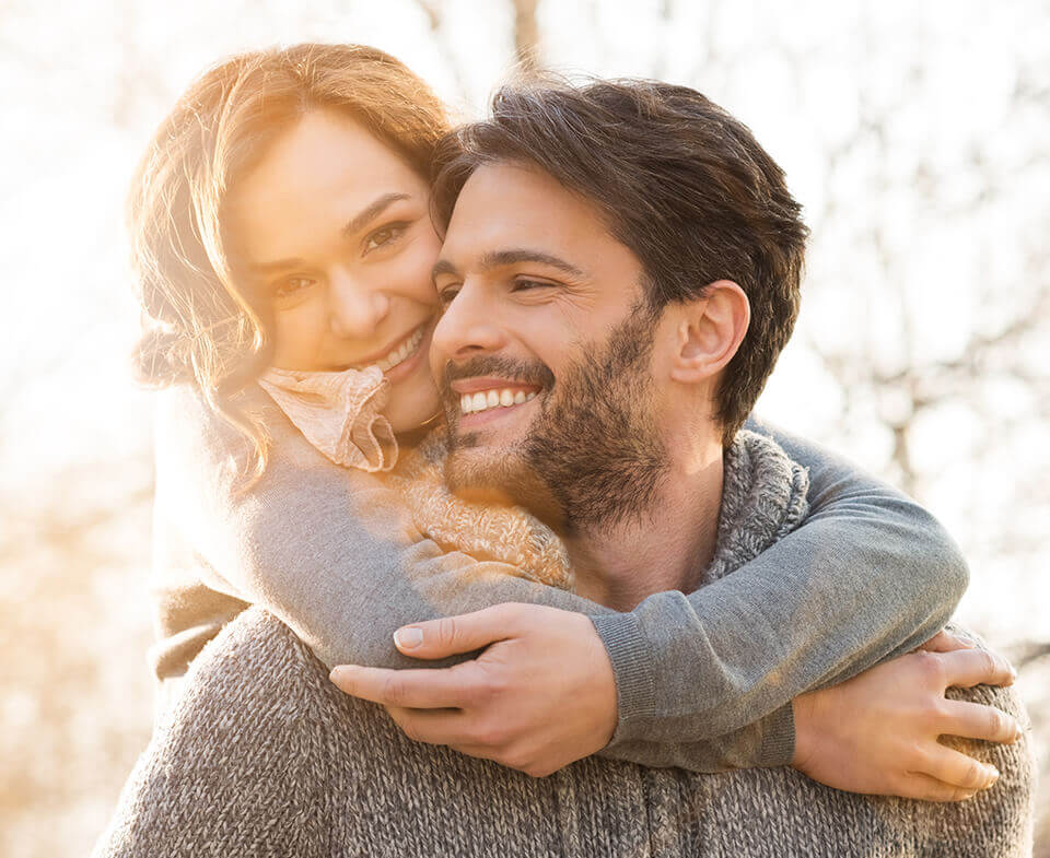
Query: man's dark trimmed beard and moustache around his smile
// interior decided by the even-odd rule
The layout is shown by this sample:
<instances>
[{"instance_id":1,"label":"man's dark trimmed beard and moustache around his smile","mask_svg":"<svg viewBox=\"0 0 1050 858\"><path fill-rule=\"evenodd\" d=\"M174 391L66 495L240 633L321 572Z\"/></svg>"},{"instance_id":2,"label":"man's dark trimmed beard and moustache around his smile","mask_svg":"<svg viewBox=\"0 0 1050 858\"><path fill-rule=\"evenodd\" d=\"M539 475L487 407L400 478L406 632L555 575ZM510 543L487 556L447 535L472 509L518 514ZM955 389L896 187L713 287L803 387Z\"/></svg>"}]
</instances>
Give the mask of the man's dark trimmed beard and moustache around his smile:
<instances>
[{"instance_id":1,"label":"man's dark trimmed beard and moustache around his smile","mask_svg":"<svg viewBox=\"0 0 1050 858\"><path fill-rule=\"evenodd\" d=\"M475 357L445 367L448 415L446 479L474 499L515 503L571 534L637 518L649 509L669 457L653 409L649 372L655 320L638 308L604 346L584 346L582 359L555 384L539 361ZM471 461L479 436L458 435L456 378L494 376L538 385L540 413L525 438Z\"/></svg>"}]
</instances>

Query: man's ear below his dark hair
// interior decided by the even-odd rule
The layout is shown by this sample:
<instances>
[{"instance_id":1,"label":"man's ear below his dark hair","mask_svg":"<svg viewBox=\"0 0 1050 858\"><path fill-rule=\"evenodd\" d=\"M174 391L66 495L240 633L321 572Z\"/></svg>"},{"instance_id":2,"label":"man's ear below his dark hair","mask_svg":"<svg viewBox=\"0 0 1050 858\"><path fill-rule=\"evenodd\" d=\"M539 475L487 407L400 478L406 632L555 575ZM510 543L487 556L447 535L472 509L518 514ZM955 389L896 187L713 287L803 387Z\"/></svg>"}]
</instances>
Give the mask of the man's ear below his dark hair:
<instances>
[{"instance_id":1,"label":"man's ear below his dark hair","mask_svg":"<svg viewBox=\"0 0 1050 858\"><path fill-rule=\"evenodd\" d=\"M703 297L678 308L670 377L697 384L720 373L733 360L747 333L751 305L732 280L716 280Z\"/></svg>"}]
</instances>

